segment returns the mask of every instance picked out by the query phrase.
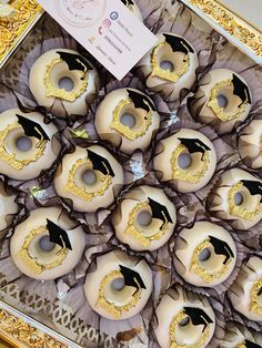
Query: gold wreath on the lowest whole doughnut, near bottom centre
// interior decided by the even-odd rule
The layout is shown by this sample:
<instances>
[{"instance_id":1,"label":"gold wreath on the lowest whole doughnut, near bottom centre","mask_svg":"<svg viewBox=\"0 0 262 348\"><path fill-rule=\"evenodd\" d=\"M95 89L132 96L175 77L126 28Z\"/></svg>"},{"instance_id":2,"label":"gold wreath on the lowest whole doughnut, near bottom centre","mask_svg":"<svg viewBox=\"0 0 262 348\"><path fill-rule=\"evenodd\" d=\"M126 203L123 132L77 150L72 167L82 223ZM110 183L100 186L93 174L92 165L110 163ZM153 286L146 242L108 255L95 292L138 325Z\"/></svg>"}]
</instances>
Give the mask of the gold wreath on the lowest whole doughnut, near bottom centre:
<instances>
[{"instance_id":1,"label":"gold wreath on the lowest whole doughnut, near bottom centre","mask_svg":"<svg viewBox=\"0 0 262 348\"><path fill-rule=\"evenodd\" d=\"M103 309L104 311L113 316L115 319L120 319L124 311L129 311L131 308L137 306L142 295L142 289L139 286L137 279L134 279L137 285L139 286L139 289L135 294L133 294L132 299L127 305L117 306L113 303L108 301L107 298L104 297L104 288L109 283L112 283L114 279L118 278L123 278L123 275L121 274L120 270L113 270L105 277L103 277L99 286L99 299L97 301L97 306L99 308Z\"/></svg>"}]
</instances>

